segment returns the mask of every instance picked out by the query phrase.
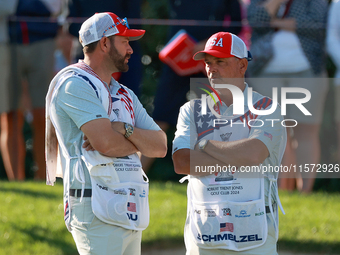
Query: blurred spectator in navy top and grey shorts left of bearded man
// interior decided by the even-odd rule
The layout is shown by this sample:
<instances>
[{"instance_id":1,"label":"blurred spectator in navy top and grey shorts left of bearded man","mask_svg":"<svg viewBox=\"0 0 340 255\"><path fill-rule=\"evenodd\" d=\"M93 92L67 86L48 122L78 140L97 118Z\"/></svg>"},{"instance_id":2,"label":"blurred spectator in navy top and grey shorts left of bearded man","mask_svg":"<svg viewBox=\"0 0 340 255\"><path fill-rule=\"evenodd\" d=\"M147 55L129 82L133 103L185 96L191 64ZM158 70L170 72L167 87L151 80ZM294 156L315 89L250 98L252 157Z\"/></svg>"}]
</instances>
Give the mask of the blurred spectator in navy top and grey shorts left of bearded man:
<instances>
[{"instance_id":1,"label":"blurred spectator in navy top and grey shorts left of bearded man","mask_svg":"<svg viewBox=\"0 0 340 255\"><path fill-rule=\"evenodd\" d=\"M25 142L23 137L24 115L20 97L22 85L28 85L32 105L33 155L36 163L35 178L44 180L45 168L45 96L53 77L54 38L58 24L46 22L61 9L61 0L19 0L15 17L9 23L10 35L10 111L2 117L1 132L4 164L7 172L17 173L18 179L25 178ZM24 17L42 17L44 22L25 20ZM25 109L26 110L26 109Z\"/></svg>"}]
</instances>

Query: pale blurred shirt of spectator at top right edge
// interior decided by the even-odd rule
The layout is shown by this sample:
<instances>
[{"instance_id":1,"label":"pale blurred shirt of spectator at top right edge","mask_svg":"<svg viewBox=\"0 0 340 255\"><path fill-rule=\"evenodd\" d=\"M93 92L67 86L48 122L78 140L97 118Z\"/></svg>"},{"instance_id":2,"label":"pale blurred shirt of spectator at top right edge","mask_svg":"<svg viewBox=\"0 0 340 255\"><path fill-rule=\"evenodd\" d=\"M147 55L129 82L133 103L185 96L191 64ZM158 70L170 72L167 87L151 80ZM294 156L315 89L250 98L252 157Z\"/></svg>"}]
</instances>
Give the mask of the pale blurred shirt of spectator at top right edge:
<instances>
[{"instance_id":1,"label":"pale blurred shirt of spectator at top right edge","mask_svg":"<svg viewBox=\"0 0 340 255\"><path fill-rule=\"evenodd\" d=\"M335 85L340 86L340 1L333 0L328 14L327 52L336 65Z\"/></svg>"}]
</instances>

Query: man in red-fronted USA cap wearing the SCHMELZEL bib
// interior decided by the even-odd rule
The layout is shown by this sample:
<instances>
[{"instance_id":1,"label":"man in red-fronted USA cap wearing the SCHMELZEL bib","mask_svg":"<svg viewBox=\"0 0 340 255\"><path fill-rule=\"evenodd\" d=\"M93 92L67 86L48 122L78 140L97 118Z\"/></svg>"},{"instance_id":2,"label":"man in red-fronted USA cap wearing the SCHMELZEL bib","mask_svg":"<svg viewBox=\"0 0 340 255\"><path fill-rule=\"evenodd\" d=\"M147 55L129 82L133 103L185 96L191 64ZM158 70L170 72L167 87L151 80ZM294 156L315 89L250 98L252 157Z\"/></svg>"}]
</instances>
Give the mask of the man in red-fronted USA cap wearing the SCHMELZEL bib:
<instances>
[{"instance_id":1,"label":"man in red-fronted USA cap wearing the SCHMELZEL bib","mask_svg":"<svg viewBox=\"0 0 340 255\"><path fill-rule=\"evenodd\" d=\"M270 169L286 145L280 109L259 114L274 103L245 83L251 55L236 35L212 35L194 59L204 60L210 86L191 86L208 94L181 107L173 141L175 171L189 182L186 254L277 254L283 209Z\"/></svg>"}]
</instances>

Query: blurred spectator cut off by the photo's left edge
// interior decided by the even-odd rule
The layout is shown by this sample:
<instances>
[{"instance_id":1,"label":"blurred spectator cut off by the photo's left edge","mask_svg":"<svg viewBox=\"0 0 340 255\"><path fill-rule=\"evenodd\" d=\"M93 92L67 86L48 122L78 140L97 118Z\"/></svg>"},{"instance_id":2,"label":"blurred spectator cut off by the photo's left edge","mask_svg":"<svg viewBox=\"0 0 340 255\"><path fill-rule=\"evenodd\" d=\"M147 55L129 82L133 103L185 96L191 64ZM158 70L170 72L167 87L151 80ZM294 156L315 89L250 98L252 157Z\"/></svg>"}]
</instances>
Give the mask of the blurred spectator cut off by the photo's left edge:
<instances>
[{"instance_id":1,"label":"blurred spectator cut off by the photo's left edge","mask_svg":"<svg viewBox=\"0 0 340 255\"><path fill-rule=\"evenodd\" d=\"M25 178L22 172L18 172L16 168L11 167L9 164L10 155L9 150L12 150L12 144L8 139L8 132L11 130L7 126L7 112L9 107L9 47L8 47L8 16L13 14L17 7L17 0L1 1L0 6L0 113L1 113L1 155L5 165L7 177L10 181L22 180Z\"/></svg>"}]
</instances>

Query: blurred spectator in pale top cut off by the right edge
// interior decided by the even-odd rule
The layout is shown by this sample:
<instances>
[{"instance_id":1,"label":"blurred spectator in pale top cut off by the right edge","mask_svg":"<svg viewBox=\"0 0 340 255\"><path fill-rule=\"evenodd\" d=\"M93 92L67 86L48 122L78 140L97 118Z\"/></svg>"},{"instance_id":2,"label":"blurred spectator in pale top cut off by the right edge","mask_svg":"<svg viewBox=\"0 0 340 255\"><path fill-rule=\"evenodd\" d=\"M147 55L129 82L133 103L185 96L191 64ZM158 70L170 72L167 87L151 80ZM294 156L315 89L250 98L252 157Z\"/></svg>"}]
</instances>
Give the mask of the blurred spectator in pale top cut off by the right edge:
<instances>
[{"instance_id":1,"label":"blurred spectator in pale top cut off by the right edge","mask_svg":"<svg viewBox=\"0 0 340 255\"><path fill-rule=\"evenodd\" d=\"M336 66L335 85L335 121L338 131L338 162L340 162L340 1L333 0L330 5L327 25L327 51Z\"/></svg>"}]
</instances>

